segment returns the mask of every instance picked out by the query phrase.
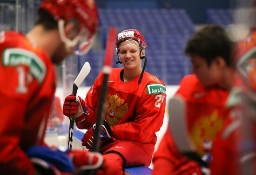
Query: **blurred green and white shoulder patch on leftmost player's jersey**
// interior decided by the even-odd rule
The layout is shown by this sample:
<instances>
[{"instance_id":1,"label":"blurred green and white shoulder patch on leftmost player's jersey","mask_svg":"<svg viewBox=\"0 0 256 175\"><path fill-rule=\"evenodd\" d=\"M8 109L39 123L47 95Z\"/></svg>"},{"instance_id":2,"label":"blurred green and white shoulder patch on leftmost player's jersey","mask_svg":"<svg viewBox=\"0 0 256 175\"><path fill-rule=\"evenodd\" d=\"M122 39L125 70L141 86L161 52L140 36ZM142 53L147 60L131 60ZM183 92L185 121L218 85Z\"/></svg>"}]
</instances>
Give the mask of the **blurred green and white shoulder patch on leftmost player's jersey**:
<instances>
[{"instance_id":1,"label":"blurred green and white shoulder patch on leftmost player's jersey","mask_svg":"<svg viewBox=\"0 0 256 175\"><path fill-rule=\"evenodd\" d=\"M47 71L45 64L36 54L20 48L4 50L2 64L4 66L27 65L30 73L39 83L42 83Z\"/></svg>"}]
</instances>

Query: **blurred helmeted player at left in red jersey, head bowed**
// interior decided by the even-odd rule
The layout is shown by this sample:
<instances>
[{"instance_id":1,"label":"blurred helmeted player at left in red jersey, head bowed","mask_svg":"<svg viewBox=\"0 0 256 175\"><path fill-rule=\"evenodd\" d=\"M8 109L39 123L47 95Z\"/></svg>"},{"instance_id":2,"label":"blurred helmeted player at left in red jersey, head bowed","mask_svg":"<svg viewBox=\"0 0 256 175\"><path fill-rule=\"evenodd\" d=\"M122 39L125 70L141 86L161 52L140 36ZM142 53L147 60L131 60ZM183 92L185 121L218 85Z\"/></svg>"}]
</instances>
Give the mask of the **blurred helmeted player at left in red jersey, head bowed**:
<instances>
[{"instance_id":1,"label":"blurred helmeted player at left in red jersey, head bowed","mask_svg":"<svg viewBox=\"0 0 256 175\"><path fill-rule=\"evenodd\" d=\"M35 174L26 152L35 156L45 150L41 155L55 155L54 150L40 148L56 87L54 64L74 52L85 53L97 28L98 13L93 0L43 0L35 26L26 35L0 32L1 174ZM31 150L33 145L39 147ZM68 156L72 158L71 168L96 165L102 160L98 154L81 151L69 151L63 156L67 163ZM65 166L61 168L67 170Z\"/></svg>"}]
</instances>

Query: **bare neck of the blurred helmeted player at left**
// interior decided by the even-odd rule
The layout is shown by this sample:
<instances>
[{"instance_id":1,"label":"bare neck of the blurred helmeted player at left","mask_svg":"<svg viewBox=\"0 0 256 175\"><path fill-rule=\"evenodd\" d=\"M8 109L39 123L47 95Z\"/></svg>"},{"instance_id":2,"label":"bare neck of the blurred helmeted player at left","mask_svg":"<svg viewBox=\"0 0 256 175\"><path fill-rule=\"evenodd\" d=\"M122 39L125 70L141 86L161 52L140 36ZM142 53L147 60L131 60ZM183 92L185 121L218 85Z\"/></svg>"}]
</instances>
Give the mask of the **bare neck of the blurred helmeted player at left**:
<instances>
[{"instance_id":1,"label":"bare neck of the blurred helmeted player at left","mask_svg":"<svg viewBox=\"0 0 256 175\"><path fill-rule=\"evenodd\" d=\"M50 57L60 43L58 30L46 31L42 26L37 25L26 35L32 45L44 50Z\"/></svg>"}]
</instances>

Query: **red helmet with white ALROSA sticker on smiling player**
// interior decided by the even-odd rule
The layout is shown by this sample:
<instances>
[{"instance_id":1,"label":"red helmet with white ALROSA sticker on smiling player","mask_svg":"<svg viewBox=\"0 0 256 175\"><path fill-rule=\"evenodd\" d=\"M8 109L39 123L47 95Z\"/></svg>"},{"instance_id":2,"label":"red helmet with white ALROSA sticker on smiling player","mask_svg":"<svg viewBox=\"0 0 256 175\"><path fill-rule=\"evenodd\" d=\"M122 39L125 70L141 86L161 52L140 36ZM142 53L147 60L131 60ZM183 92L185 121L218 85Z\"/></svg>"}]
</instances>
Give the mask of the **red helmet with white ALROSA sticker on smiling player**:
<instances>
[{"instance_id":1,"label":"red helmet with white ALROSA sticker on smiling player","mask_svg":"<svg viewBox=\"0 0 256 175\"><path fill-rule=\"evenodd\" d=\"M127 39L133 39L135 41L138 41L140 48L145 51L147 44L146 44L146 41L145 41L144 37L142 36L141 32L139 32L136 29L128 29L128 30L124 30L124 31L118 33L118 36L117 36L116 42L115 42L117 52L118 52L119 44L122 41L127 40Z\"/></svg>"}]
</instances>

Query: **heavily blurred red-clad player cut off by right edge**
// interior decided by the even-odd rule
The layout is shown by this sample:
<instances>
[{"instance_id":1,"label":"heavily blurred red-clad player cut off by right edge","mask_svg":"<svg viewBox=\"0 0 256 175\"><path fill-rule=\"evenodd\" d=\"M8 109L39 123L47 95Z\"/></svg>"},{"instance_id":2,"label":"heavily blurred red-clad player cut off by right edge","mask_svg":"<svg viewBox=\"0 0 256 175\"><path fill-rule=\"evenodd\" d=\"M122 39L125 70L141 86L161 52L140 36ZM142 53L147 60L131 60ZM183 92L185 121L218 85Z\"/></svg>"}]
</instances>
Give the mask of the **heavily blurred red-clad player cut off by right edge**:
<instances>
[{"instance_id":1,"label":"heavily blurred red-clad player cut off by right edge","mask_svg":"<svg viewBox=\"0 0 256 175\"><path fill-rule=\"evenodd\" d=\"M248 35L234 48L237 76L229 100L232 110L216 137L212 175L256 174L256 20L251 19Z\"/></svg>"}]
</instances>

